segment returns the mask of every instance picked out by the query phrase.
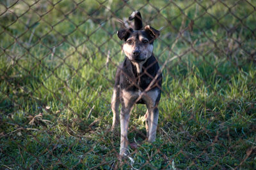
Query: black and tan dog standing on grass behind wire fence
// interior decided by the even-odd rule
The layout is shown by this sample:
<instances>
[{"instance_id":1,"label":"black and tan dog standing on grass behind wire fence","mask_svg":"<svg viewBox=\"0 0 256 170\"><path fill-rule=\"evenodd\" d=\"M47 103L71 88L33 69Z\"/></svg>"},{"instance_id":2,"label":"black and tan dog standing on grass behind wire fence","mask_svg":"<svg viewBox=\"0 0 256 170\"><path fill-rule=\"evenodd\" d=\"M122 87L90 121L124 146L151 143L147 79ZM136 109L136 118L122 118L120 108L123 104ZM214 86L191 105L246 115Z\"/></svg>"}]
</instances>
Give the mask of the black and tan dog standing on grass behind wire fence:
<instances>
[{"instance_id":1,"label":"black and tan dog standing on grass behind wire fence","mask_svg":"<svg viewBox=\"0 0 256 170\"><path fill-rule=\"evenodd\" d=\"M153 43L160 32L149 25L143 28L140 11L132 12L129 20L134 20L133 29L125 28L117 32L124 41L122 50L124 61L118 66L115 87L111 98L113 111L112 130L120 122L120 156L127 155L128 123L135 104L146 104L145 126L150 143L156 139L158 122L158 104L161 98L162 74L156 57L153 55ZM118 106L122 105L120 118Z\"/></svg>"}]
</instances>

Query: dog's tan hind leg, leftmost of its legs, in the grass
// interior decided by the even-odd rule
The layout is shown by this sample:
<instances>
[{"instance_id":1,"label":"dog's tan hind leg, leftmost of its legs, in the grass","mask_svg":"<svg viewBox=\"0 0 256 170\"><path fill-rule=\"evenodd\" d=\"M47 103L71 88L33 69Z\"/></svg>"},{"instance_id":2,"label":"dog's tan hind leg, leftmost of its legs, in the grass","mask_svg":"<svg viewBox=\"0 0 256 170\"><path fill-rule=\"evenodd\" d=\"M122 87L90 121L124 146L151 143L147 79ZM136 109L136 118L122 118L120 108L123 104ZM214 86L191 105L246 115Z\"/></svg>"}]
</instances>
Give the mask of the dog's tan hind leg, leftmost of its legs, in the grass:
<instances>
[{"instance_id":1,"label":"dog's tan hind leg, leftmost of its legs, in the grass","mask_svg":"<svg viewBox=\"0 0 256 170\"><path fill-rule=\"evenodd\" d=\"M116 125L120 123L119 113L118 113L118 107L120 104L119 91L120 91L119 88L115 87L113 90L113 95L111 99L111 110L113 112L113 123L112 123L111 131L115 130Z\"/></svg>"}]
</instances>

